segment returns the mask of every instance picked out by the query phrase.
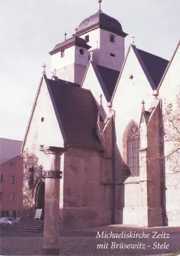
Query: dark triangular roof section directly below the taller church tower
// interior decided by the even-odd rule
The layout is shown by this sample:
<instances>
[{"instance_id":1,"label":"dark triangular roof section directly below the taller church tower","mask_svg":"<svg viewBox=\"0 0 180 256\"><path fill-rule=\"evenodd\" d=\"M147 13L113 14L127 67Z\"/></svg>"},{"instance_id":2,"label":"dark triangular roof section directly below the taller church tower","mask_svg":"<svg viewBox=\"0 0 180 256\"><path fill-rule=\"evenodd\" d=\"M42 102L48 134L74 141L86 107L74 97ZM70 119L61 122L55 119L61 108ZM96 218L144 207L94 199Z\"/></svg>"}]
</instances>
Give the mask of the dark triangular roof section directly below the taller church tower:
<instances>
[{"instance_id":1,"label":"dark triangular roof section directly below the taller church tower","mask_svg":"<svg viewBox=\"0 0 180 256\"><path fill-rule=\"evenodd\" d=\"M96 65L94 62L91 63L102 91L109 102L113 95L120 71Z\"/></svg>"}]
</instances>

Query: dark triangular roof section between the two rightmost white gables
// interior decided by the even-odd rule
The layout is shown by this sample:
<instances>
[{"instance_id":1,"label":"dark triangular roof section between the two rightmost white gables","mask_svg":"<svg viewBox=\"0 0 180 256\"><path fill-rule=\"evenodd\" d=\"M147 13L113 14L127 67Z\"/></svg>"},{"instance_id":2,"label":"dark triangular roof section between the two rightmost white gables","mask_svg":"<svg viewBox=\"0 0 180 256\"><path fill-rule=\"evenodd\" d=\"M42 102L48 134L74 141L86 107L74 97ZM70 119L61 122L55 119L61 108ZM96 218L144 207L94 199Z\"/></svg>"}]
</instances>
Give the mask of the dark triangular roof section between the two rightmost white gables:
<instances>
[{"instance_id":1,"label":"dark triangular roof section between the two rightmost white gables","mask_svg":"<svg viewBox=\"0 0 180 256\"><path fill-rule=\"evenodd\" d=\"M153 55L151 53L142 51L140 49L137 49L137 51L155 85L155 88L152 89L156 90L158 88L158 85L161 81L161 78L166 70L169 61L157 55Z\"/></svg>"}]
</instances>

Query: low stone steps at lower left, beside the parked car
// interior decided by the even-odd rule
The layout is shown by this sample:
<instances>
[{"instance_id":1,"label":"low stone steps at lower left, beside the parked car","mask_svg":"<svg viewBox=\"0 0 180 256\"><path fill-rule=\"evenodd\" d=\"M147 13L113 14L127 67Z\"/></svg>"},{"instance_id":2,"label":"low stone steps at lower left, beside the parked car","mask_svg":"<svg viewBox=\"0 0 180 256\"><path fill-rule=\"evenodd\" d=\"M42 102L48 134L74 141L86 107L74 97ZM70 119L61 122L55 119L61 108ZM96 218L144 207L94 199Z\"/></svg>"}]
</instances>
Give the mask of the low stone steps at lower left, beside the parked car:
<instances>
[{"instance_id":1,"label":"low stone steps at lower left, beside the parked car","mask_svg":"<svg viewBox=\"0 0 180 256\"><path fill-rule=\"evenodd\" d=\"M44 221L43 220L27 220L21 221L19 223L13 225L1 226L1 230L21 230L24 232L30 233L42 233L44 229Z\"/></svg>"}]
</instances>

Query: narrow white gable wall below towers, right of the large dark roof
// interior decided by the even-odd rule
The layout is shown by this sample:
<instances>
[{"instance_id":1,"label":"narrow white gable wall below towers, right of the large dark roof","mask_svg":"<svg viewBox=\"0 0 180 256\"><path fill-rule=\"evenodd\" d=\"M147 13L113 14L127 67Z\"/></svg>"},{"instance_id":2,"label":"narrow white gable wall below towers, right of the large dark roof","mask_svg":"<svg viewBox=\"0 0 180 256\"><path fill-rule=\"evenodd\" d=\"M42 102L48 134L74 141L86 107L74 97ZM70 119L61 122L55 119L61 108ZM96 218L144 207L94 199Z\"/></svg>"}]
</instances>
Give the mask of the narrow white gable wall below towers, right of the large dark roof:
<instances>
[{"instance_id":1,"label":"narrow white gable wall below towers, right of the large dark roof","mask_svg":"<svg viewBox=\"0 0 180 256\"><path fill-rule=\"evenodd\" d=\"M101 102L101 106L99 108L100 113L102 114L102 116L105 117L105 113L106 115L109 113L108 110L108 103L106 100L106 97L100 87L99 81L94 73L93 67L90 63L88 71L86 73L84 82L82 84L82 88L84 89L88 89L91 91L92 95L94 96L98 106L100 106L100 94L102 95L102 102ZM104 113L105 112L105 113Z\"/></svg>"}]
</instances>

